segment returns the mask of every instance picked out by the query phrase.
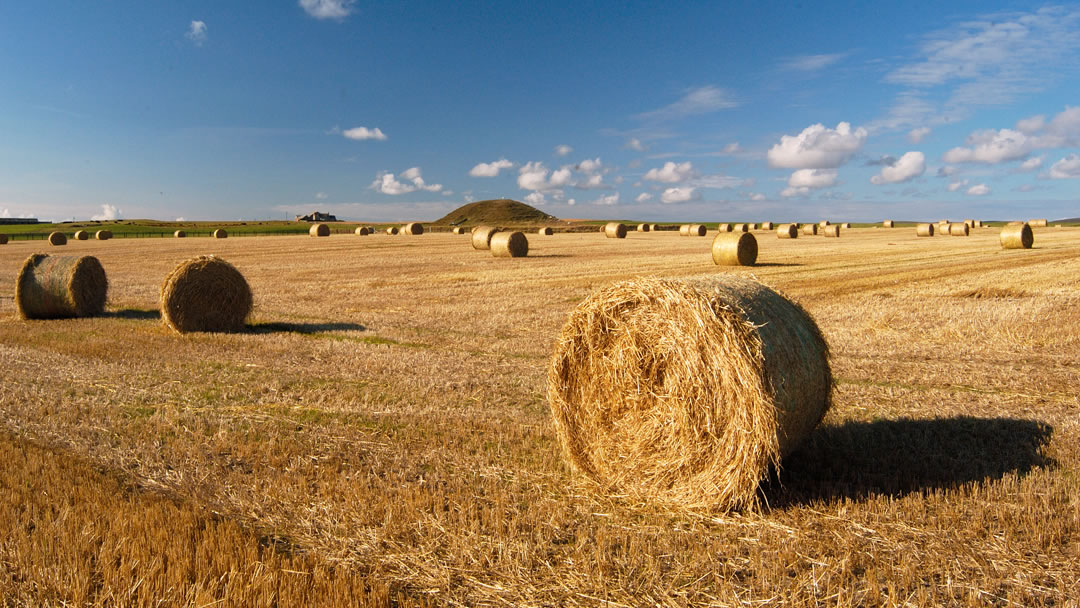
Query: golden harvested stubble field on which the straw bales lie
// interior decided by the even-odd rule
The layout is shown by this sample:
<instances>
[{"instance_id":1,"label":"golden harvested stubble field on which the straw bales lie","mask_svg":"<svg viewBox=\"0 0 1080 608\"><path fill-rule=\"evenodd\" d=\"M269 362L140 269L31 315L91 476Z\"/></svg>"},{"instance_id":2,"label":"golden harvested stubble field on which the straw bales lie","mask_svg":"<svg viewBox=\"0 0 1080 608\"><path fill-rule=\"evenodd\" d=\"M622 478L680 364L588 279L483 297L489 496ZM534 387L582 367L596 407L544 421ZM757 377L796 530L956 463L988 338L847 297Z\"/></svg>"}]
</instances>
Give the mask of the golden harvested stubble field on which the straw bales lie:
<instances>
[{"instance_id":1,"label":"golden harvested stubble field on which the straw bales lie","mask_svg":"<svg viewBox=\"0 0 1080 608\"><path fill-rule=\"evenodd\" d=\"M0 594L9 606L1076 606L1080 229L853 229L713 266L710 237L124 239L0 246ZM24 322L31 253L94 255L106 316ZM179 336L216 254L249 330ZM832 349L834 407L756 512L596 491L545 401L597 287L752 274Z\"/></svg>"}]
</instances>

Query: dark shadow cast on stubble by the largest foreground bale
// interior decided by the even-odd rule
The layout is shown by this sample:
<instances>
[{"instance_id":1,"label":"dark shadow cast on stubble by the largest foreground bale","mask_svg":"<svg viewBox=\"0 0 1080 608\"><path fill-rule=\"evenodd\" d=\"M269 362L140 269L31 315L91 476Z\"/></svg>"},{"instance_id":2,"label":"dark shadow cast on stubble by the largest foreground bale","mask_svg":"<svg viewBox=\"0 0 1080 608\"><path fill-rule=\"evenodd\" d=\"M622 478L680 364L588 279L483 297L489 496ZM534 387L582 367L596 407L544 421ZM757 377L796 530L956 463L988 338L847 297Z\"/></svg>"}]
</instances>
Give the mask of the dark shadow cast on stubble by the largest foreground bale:
<instances>
[{"instance_id":1,"label":"dark shadow cast on stubble by the largest foreground bale","mask_svg":"<svg viewBox=\"0 0 1080 608\"><path fill-rule=\"evenodd\" d=\"M819 428L762 484L772 508L900 497L1051 467L1053 428L1013 418L878 420Z\"/></svg>"}]
</instances>

